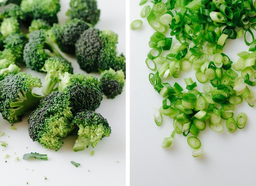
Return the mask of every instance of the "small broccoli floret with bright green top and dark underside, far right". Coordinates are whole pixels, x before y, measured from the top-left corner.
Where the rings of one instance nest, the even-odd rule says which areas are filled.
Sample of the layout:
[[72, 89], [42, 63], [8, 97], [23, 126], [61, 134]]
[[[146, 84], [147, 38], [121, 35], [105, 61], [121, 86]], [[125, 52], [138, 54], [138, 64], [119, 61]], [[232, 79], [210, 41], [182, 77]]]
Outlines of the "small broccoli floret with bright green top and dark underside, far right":
[[104, 70], [100, 74], [100, 82], [104, 95], [109, 99], [115, 98], [123, 91], [125, 79], [123, 70]]

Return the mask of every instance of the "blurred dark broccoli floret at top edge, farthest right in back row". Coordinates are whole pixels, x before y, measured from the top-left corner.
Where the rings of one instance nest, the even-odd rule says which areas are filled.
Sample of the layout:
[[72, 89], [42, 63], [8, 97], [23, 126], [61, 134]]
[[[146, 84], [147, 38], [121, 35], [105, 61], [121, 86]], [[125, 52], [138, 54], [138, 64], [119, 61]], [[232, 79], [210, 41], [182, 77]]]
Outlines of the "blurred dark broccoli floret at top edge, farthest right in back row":
[[95, 25], [99, 21], [100, 10], [97, 9], [95, 0], [71, 0], [67, 16], [71, 19], [78, 18]]

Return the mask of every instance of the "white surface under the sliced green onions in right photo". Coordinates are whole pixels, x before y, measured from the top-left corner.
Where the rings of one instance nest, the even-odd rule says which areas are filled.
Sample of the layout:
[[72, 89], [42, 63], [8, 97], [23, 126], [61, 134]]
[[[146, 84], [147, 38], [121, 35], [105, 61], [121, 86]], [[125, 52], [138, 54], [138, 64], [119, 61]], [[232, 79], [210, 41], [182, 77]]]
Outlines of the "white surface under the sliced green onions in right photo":
[[[248, 122], [243, 129], [230, 134], [224, 125], [225, 130], [216, 133], [207, 125], [200, 132], [202, 157], [191, 156], [193, 149], [182, 134], [175, 135], [170, 148], [161, 147], [163, 139], [173, 131], [173, 120], [163, 116], [162, 126], [154, 123], [153, 108], [161, 106], [162, 98], [148, 81], [151, 71], [145, 59], [150, 51], [149, 38], [155, 31], [140, 17], [145, 5], [139, 6], [139, 2], [130, 1], [130, 23], [135, 19], [143, 21], [140, 29], [130, 31], [130, 185], [255, 185], [255, 108], [245, 102], [237, 105], [234, 112], [234, 117], [241, 111], [247, 113]], [[229, 40], [223, 53], [236, 62], [241, 51], [248, 51], [243, 38]], [[168, 82], [173, 85], [177, 81], [184, 87], [185, 77], [196, 81], [191, 70]], [[255, 87], [250, 89], [255, 91]]]

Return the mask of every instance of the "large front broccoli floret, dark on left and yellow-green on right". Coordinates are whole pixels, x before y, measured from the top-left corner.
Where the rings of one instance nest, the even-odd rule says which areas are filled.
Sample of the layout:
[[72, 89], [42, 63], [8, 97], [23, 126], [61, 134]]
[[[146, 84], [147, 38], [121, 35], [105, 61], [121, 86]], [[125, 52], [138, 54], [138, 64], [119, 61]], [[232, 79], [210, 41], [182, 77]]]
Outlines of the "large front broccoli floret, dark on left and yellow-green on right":
[[74, 129], [69, 98], [67, 93], [56, 91], [40, 100], [28, 118], [28, 132], [33, 141], [55, 151], [62, 146], [61, 138]]

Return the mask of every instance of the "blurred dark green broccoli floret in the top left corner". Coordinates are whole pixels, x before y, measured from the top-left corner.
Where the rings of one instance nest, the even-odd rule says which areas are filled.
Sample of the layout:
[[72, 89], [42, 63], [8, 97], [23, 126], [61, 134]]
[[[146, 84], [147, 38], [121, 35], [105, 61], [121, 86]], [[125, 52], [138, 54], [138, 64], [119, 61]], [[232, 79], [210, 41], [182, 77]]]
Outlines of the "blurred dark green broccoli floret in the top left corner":
[[17, 4], [7, 4], [0, 6], [0, 19], [7, 17], [13, 17], [16, 19], [24, 19], [24, 12], [20, 9]]

